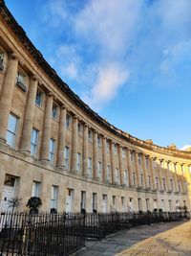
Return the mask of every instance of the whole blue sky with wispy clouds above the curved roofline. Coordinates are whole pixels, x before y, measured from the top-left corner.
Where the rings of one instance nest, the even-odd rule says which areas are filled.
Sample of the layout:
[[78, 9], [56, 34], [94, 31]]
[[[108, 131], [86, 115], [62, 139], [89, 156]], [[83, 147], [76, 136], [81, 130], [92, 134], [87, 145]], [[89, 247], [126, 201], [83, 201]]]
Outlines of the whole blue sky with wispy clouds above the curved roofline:
[[190, 0], [6, 0], [59, 76], [117, 128], [191, 144]]

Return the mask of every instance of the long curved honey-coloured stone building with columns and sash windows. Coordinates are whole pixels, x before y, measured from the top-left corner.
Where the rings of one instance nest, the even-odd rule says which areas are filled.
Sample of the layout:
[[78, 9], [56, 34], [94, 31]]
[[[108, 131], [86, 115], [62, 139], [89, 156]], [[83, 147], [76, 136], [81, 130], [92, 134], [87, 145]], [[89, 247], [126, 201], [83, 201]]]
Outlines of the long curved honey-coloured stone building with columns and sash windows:
[[0, 198], [43, 211], [190, 207], [191, 152], [123, 132], [85, 105], [0, 1]]

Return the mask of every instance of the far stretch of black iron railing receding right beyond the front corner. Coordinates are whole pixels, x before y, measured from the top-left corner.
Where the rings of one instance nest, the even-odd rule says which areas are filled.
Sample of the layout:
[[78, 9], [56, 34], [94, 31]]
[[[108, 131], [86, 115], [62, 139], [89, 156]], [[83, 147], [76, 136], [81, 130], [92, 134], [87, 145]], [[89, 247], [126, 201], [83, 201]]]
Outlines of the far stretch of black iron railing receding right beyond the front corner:
[[148, 213], [107, 213], [86, 214], [86, 237], [103, 239], [120, 229], [157, 222], [180, 221], [188, 219], [188, 213], [148, 212]]

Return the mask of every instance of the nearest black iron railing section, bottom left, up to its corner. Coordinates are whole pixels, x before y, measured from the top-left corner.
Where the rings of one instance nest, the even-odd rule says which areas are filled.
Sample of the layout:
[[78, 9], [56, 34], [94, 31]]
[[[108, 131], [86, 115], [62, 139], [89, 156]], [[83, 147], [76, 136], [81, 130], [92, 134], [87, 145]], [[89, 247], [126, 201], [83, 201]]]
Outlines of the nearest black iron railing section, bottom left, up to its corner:
[[70, 255], [85, 246], [79, 214], [0, 215], [0, 255]]

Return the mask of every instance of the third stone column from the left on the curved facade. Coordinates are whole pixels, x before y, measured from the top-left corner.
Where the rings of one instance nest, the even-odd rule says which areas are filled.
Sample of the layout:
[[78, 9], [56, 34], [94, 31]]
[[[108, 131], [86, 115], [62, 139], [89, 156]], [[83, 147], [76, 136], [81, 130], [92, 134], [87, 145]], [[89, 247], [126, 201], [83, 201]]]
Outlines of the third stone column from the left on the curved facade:
[[51, 139], [52, 126], [52, 110], [53, 110], [53, 93], [50, 92], [46, 97], [46, 108], [44, 114], [44, 126], [42, 134], [41, 160], [49, 161], [49, 147]]

